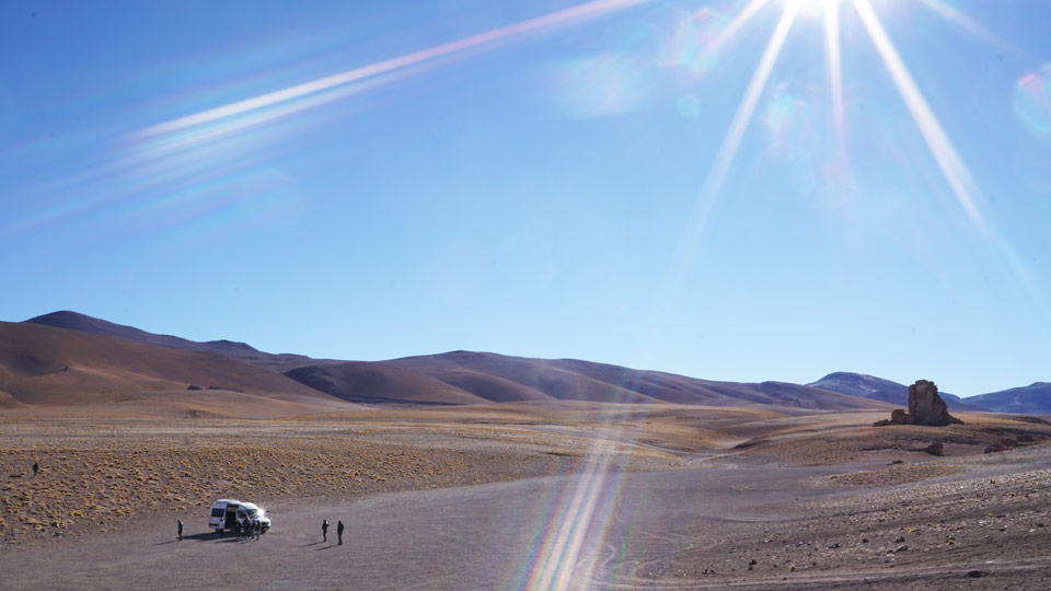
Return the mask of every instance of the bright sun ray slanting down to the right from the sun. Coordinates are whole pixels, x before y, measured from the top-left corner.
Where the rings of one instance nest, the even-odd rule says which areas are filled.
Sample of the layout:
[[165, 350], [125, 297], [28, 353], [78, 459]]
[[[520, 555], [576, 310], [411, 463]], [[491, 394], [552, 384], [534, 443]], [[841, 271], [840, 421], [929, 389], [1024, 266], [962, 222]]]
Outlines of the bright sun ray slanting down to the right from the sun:
[[876, 45], [879, 57], [883, 60], [883, 65], [894, 81], [894, 86], [898, 88], [898, 92], [905, 101], [905, 106], [909, 108], [913, 121], [920, 129], [920, 134], [926, 141], [931, 153], [934, 154], [934, 159], [938, 163], [938, 167], [942, 169], [942, 174], [949, 183], [957, 201], [963, 208], [967, 217], [970, 218], [971, 223], [983, 235], [988, 235], [989, 225], [977, 202], [979, 196], [978, 184], [974, 183], [963, 161], [956, 153], [952, 142], [946, 136], [945, 130], [942, 129], [942, 124], [938, 123], [934, 112], [927, 105], [927, 101], [920, 92], [920, 88], [916, 86], [912, 74], [909, 73], [909, 68], [905, 67], [901, 56], [898, 55], [898, 50], [868, 0], [854, 0], [854, 8], [857, 9], [862, 23]]

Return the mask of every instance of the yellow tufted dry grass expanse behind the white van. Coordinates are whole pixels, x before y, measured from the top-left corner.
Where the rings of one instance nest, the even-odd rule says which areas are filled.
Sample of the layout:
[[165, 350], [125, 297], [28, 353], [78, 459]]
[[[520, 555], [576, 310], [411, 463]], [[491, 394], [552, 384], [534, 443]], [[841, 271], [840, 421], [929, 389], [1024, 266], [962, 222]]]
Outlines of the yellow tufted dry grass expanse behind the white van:
[[[0, 552], [232, 497], [354, 498], [675, 456], [630, 442], [492, 425], [0, 417]], [[39, 475], [32, 465], [39, 462]]]

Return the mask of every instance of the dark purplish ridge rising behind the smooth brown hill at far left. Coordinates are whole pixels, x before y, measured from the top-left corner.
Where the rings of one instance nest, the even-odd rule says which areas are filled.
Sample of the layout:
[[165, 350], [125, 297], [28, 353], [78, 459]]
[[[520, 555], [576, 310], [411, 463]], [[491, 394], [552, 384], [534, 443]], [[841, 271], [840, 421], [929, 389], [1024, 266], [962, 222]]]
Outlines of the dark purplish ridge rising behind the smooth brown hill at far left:
[[78, 331], [92, 335], [119, 338], [123, 340], [129, 340], [131, 343], [171, 347], [187, 351], [216, 352], [235, 357], [252, 364], [268, 368], [277, 372], [284, 372], [293, 368], [327, 361], [325, 359], [311, 359], [310, 357], [302, 355], [275, 355], [263, 352], [251, 345], [233, 340], [207, 340], [201, 343], [172, 335], [158, 335], [141, 331], [134, 326], [115, 324], [101, 318], [95, 318], [85, 314], [69, 311], [51, 312], [50, 314], [36, 316], [25, 321], [25, 324], [54, 326], [56, 328], [66, 328], [68, 331]]

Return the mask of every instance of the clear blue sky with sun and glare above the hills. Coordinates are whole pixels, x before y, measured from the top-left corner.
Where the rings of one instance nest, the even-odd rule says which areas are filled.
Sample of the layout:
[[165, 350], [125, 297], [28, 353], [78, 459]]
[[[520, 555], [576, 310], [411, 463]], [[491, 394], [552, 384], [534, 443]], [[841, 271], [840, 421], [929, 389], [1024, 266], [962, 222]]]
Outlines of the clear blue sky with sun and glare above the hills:
[[1048, 22], [1040, 0], [3, 2], [0, 317], [1048, 381]]

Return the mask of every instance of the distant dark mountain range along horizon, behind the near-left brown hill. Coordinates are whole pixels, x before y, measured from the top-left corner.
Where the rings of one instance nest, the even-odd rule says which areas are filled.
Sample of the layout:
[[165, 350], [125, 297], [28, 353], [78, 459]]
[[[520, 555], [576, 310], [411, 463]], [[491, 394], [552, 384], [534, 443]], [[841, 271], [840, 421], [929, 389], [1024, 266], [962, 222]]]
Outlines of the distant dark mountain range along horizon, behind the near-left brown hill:
[[[45, 325], [143, 345], [219, 354], [247, 361], [275, 374], [284, 374], [284, 378], [312, 391], [350, 402], [477, 404], [564, 399], [712, 406], [774, 405], [810, 410], [886, 409], [889, 405], [900, 407], [908, 404], [905, 385], [850, 372], [830, 373], [817, 382], [800, 385], [787, 382], [719, 382], [579, 359], [532, 359], [475, 351], [450, 351], [389, 361], [339, 361], [292, 354], [267, 354], [231, 340], [201, 343], [158, 335], [70, 311], [44, 314], [23, 324]], [[942, 395], [949, 408], [958, 412], [1042, 414], [1051, 413], [1049, 389], [1049, 384], [1038, 382], [1025, 389], [1012, 389], [967, 401], [952, 394]]]

